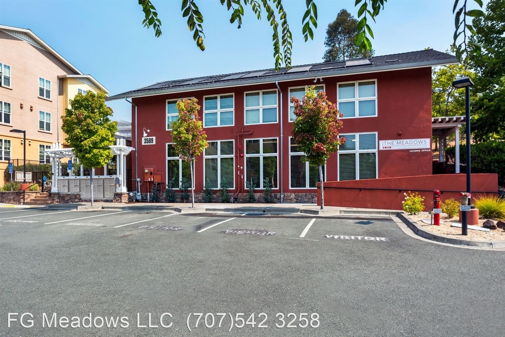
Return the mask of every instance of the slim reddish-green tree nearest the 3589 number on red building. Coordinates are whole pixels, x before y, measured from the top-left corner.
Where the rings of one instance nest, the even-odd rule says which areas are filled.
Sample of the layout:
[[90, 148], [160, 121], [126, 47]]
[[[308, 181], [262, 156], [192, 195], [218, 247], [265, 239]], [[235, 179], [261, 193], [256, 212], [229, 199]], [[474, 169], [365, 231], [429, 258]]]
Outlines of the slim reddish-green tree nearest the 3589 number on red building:
[[198, 110], [200, 106], [196, 99], [180, 100], [176, 104], [179, 111], [179, 119], [172, 122], [171, 134], [173, 147], [179, 154], [179, 158], [189, 162], [191, 171], [191, 207], [194, 208], [194, 161], [204, 149], [209, 147], [207, 134], [205, 133]]

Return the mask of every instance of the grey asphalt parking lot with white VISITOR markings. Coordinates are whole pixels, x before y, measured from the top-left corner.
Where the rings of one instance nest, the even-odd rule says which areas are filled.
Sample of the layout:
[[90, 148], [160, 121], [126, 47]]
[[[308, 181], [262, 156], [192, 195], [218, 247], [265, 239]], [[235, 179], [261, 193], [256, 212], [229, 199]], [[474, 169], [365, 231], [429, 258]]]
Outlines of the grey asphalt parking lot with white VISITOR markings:
[[1, 336], [488, 336], [505, 327], [503, 251], [427, 243], [386, 216], [1, 209], [0, 256]]

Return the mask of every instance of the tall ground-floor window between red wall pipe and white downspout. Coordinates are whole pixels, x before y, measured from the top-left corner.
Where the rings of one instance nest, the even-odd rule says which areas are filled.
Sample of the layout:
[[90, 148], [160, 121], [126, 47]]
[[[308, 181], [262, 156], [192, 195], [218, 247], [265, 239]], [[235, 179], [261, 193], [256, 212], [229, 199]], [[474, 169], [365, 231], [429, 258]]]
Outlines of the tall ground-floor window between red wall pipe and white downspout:
[[268, 179], [272, 188], [279, 188], [277, 181], [277, 138], [245, 139], [245, 180], [264, 188]]

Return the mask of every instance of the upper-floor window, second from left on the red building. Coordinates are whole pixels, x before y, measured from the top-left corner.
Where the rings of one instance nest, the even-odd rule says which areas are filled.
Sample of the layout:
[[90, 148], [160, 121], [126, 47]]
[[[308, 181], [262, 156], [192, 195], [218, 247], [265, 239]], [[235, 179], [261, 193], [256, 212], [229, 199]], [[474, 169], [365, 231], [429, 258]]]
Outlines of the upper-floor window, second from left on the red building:
[[233, 125], [233, 93], [204, 97], [204, 127]]

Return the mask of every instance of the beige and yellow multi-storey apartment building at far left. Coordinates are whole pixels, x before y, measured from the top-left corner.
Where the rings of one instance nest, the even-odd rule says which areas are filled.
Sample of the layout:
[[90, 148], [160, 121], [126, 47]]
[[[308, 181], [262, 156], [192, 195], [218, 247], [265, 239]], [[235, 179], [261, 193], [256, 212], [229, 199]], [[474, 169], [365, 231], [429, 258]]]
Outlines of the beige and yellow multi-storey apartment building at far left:
[[49, 163], [44, 151], [65, 146], [61, 116], [78, 92], [109, 91], [84, 75], [29, 29], [0, 25], [0, 186], [9, 160]]

